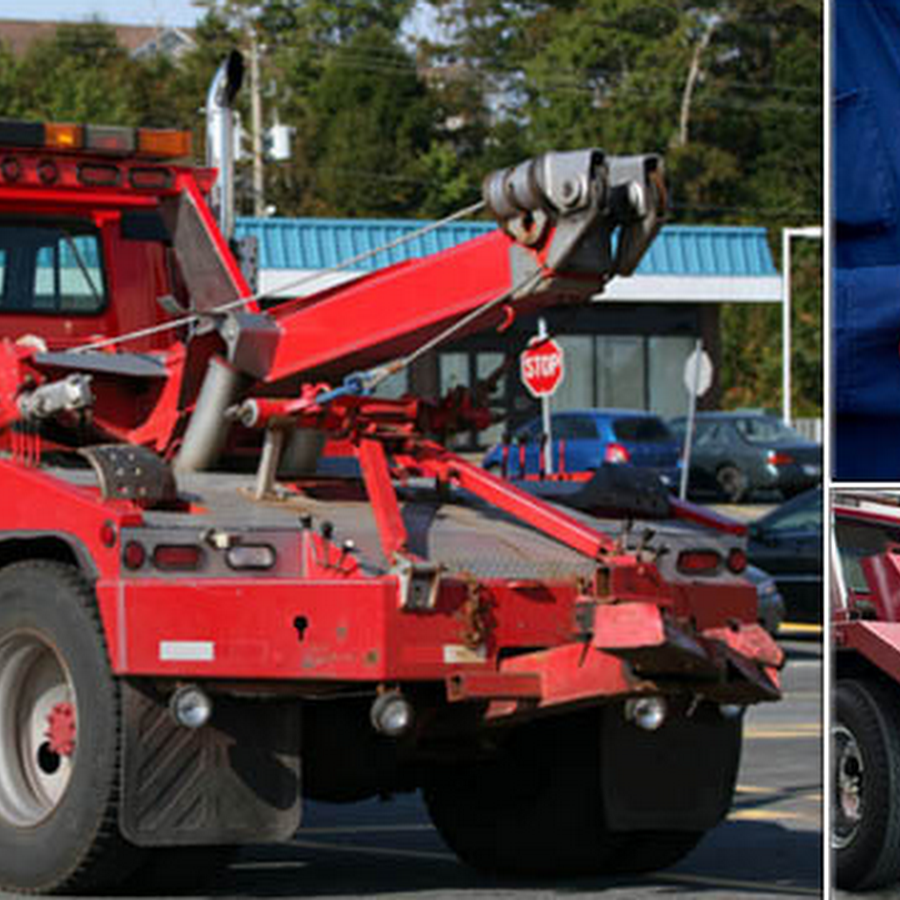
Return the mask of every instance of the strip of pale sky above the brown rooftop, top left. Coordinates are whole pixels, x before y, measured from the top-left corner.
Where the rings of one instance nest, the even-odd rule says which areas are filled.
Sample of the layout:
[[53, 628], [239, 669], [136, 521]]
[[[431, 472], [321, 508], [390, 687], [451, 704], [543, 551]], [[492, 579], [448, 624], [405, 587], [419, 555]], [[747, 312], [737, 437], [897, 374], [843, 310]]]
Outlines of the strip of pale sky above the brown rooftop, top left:
[[121, 25], [193, 25], [191, 0], [0, 0], [0, 19], [80, 22], [100, 18]]

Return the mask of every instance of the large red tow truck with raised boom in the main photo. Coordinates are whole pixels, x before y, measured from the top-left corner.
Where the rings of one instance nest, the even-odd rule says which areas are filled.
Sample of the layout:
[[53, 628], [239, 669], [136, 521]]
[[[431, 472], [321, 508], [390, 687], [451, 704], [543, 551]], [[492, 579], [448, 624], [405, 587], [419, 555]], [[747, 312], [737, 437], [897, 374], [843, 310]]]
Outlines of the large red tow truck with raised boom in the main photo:
[[445, 449], [477, 396], [372, 390], [630, 274], [661, 161], [546, 154], [486, 181], [495, 232], [264, 308], [187, 153], [0, 122], [0, 887], [196, 877], [413, 790], [484, 870], [679, 859], [780, 696], [741, 529], [601, 528]]

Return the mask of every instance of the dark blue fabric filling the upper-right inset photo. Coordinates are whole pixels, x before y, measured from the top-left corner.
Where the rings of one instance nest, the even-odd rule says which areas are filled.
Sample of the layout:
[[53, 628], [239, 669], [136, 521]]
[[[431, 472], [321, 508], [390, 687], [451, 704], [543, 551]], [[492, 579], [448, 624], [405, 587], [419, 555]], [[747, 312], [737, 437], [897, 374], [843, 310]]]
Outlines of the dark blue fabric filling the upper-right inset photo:
[[900, 0], [833, 0], [834, 476], [900, 480]]

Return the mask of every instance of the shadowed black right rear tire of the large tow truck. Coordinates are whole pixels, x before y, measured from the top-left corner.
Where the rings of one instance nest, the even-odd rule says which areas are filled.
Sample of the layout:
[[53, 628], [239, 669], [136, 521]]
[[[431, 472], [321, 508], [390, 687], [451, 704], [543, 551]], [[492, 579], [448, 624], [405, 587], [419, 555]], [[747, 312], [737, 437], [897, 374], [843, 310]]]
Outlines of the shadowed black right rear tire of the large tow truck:
[[608, 829], [599, 728], [595, 713], [527, 726], [499, 759], [443, 772], [424, 790], [441, 837], [492, 875], [612, 875], [676, 863], [702, 832]]

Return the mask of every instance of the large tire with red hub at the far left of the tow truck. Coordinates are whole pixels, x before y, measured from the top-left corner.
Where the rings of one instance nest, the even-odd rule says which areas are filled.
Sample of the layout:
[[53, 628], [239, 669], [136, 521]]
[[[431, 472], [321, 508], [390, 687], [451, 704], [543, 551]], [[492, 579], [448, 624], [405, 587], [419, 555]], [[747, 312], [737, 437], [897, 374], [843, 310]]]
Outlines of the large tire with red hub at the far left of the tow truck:
[[142, 854], [118, 828], [119, 693], [71, 566], [0, 571], [0, 886], [109, 888]]

